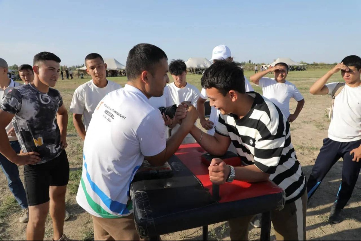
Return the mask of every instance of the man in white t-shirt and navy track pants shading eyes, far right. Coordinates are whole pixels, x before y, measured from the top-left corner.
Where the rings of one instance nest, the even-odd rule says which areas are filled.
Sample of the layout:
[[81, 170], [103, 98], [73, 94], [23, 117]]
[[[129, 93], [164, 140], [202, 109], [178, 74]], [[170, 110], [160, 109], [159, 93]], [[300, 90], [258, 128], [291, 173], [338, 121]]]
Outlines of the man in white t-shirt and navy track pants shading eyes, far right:
[[[326, 84], [329, 78], [341, 70], [344, 86], [335, 97], [338, 82]], [[336, 201], [331, 207], [329, 221], [341, 222], [341, 210], [351, 198], [361, 169], [361, 58], [345, 57], [341, 63], [319, 78], [311, 87], [313, 95], [331, 95], [334, 108], [328, 137], [316, 158], [307, 181], [308, 198], [325, 178], [331, 167], [342, 157], [342, 180]]]

